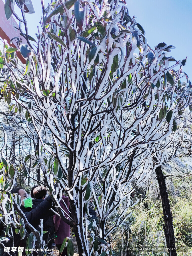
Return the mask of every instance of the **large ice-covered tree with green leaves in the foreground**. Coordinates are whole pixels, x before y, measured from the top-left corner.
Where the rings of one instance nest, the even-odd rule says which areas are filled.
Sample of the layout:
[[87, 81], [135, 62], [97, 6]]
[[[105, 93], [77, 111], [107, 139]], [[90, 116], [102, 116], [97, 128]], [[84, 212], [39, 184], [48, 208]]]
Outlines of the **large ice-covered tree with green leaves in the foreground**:
[[[6, 1], [13, 11], [12, 1]], [[191, 109], [190, 82], [180, 80], [185, 61], [166, 57], [174, 47], [164, 42], [150, 48], [125, 1], [59, 0], [47, 8], [41, 1], [34, 47], [23, 6], [15, 2], [29, 45], [20, 45], [26, 58], [20, 65], [16, 49], [4, 43], [2, 63], [10, 77], [3, 95], [9, 106], [16, 104], [19, 125], [37, 140], [33, 167], [42, 170], [61, 218], [73, 226], [79, 255], [112, 255], [110, 233], [136, 203], [135, 185], [182, 146], [179, 124], [183, 111]], [[8, 169], [1, 179], [11, 180]], [[59, 208], [64, 191], [69, 219]], [[2, 198], [8, 195], [4, 189]], [[107, 219], [120, 205], [123, 210], [110, 225]], [[90, 208], [98, 221], [90, 221]]]

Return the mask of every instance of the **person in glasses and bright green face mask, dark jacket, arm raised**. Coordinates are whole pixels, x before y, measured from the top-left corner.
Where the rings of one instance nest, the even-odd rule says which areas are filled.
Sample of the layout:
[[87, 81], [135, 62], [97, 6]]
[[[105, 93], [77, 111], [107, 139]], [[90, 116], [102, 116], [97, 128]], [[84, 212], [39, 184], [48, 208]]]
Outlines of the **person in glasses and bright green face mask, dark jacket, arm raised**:
[[[52, 206], [52, 197], [48, 196], [47, 198], [45, 198], [45, 200], [43, 200], [41, 202], [41, 204], [39, 204], [35, 209], [32, 209], [32, 205], [33, 205], [33, 201], [30, 197], [30, 195], [26, 192], [25, 189], [23, 188], [14, 188], [11, 190], [12, 194], [18, 194], [21, 197], [21, 206], [20, 209], [23, 211], [23, 213], [25, 214], [28, 222], [38, 231], [40, 231], [39, 228], [39, 223], [40, 223], [40, 219], [45, 219], [48, 218], [48, 216], [50, 216], [50, 208]], [[26, 231], [28, 232], [28, 234], [31, 233], [31, 231], [29, 229], [26, 228]], [[5, 236], [4, 233], [2, 233], [1, 235]], [[26, 248], [26, 240], [27, 240], [27, 236], [25, 236], [24, 239], [21, 239], [20, 234], [16, 234], [14, 232], [13, 229], [13, 237], [9, 237], [9, 241], [5, 244], [6, 247], [24, 247], [24, 251]], [[13, 256], [17, 256], [18, 252], [4, 252], [4, 248], [1, 247], [2, 249], [0, 250], [0, 255], [2, 256], [8, 256], [8, 255], [13, 255]]]

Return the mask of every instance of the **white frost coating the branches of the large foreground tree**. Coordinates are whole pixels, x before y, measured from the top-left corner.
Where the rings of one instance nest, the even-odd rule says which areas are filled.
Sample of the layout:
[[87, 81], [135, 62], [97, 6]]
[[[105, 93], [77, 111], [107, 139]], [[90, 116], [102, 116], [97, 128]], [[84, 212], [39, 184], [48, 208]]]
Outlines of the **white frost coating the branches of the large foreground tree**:
[[[178, 73], [171, 70], [177, 64], [174, 63], [169, 68], [168, 60], [165, 63], [162, 61], [164, 49], [154, 50], [147, 46], [147, 40], [144, 40], [141, 31], [137, 29], [135, 19], [133, 24], [128, 26], [125, 20], [122, 23], [123, 14], [116, 15], [115, 11], [118, 13], [118, 6], [123, 6], [123, 3], [118, 1], [115, 5], [113, 0], [110, 4], [107, 1], [101, 2], [101, 6], [98, 0], [86, 4], [83, 24], [84, 30], [87, 31], [95, 24], [96, 17], [100, 19], [99, 15], [104, 10], [109, 18], [109, 21], [100, 19], [100, 27], [95, 27], [97, 36], [93, 32], [86, 37], [94, 42], [97, 52], [100, 51], [98, 64], [94, 64], [97, 52], [89, 62], [91, 45], [78, 38], [82, 36], [82, 31], [76, 30], [73, 6], [65, 10], [69, 17], [68, 22], [71, 23], [65, 35], [60, 36], [66, 46], [50, 39], [44, 32], [38, 41], [36, 54], [38, 74], [35, 75], [36, 69], [33, 67], [34, 70], [22, 77], [24, 82], [19, 77], [19, 72], [12, 70], [14, 75], [11, 75], [15, 87], [18, 86], [20, 92], [22, 90], [19, 87], [27, 92], [19, 96], [22, 101], [14, 96], [17, 106], [27, 109], [32, 120], [20, 125], [25, 137], [27, 135], [32, 141], [31, 151], [26, 147], [25, 154], [33, 154], [31, 152], [38, 150], [35, 158], [38, 159], [56, 200], [58, 191], [61, 198], [65, 190], [71, 205], [74, 206], [72, 214], [78, 223], [76, 236], [80, 237], [80, 245], [85, 245], [84, 253], [88, 256], [93, 252], [93, 249], [91, 252], [88, 249], [88, 216], [80, 219], [85, 204], [87, 208], [91, 205], [100, 221], [105, 222], [115, 209], [121, 206], [122, 212], [116, 213], [116, 221], [111, 229], [105, 226], [104, 230], [101, 230], [101, 227], [93, 222], [97, 234], [107, 239], [114, 228], [129, 216], [126, 214], [132, 204], [130, 195], [134, 190], [133, 178], [134, 184], [142, 184], [151, 170], [169, 161], [177, 153], [177, 148], [184, 143], [186, 124], [181, 120], [183, 115], [178, 115], [179, 103], [182, 103], [181, 108], [184, 110], [191, 102], [191, 91], [186, 92], [188, 85], [181, 90], [177, 87], [176, 90], [175, 84], [170, 86], [169, 82], [166, 85], [163, 83], [164, 72], [167, 71], [172, 75], [174, 83], [180, 79], [177, 77]], [[64, 0], [62, 3], [64, 4]], [[51, 13], [54, 9], [53, 4], [47, 11]], [[92, 24], [90, 15], [94, 16]], [[64, 27], [65, 19], [61, 20], [60, 14], [52, 17], [50, 23], [47, 22], [48, 31], [52, 31], [56, 36], [59, 36], [60, 29], [62, 33], [58, 24]], [[127, 26], [124, 28], [121, 24]], [[100, 29], [104, 25], [106, 33], [101, 37]], [[71, 28], [76, 31], [73, 40], [70, 38]], [[139, 58], [138, 43], [141, 50]], [[151, 65], [146, 65], [145, 56], [149, 51], [154, 51], [155, 60]], [[117, 58], [114, 58], [116, 55], [118, 62]], [[52, 68], [50, 63], [54, 63], [55, 68]], [[44, 89], [50, 91], [48, 95], [42, 91]], [[169, 124], [166, 116], [159, 117], [160, 110], [165, 110], [165, 107], [167, 111], [174, 110]], [[17, 116], [14, 118], [18, 123]], [[24, 114], [21, 113], [21, 118], [25, 120], [25, 111]], [[190, 123], [189, 117], [185, 118]], [[180, 127], [176, 133], [172, 132], [173, 120], [177, 120], [177, 127]], [[7, 134], [9, 143], [11, 132]], [[36, 148], [33, 144], [37, 145]], [[24, 150], [21, 151], [25, 158]], [[154, 156], [156, 163], [153, 161]], [[58, 159], [60, 169], [54, 176], [55, 158]], [[15, 175], [13, 182], [16, 181]], [[88, 200], [84, 198], [87, 183], [81, 185], [86, 177], [91, 181], [92, 188]], [[56, 190], [55, 182], [58, 183]], [[11, 213], [13, 209], [8, 213], [5, 211], [6, 223], [12, 222]], [[92, 236], [94, 241], [93, 231]], [[98, 252], [95, 252], [95, 255], [97, 254]]]

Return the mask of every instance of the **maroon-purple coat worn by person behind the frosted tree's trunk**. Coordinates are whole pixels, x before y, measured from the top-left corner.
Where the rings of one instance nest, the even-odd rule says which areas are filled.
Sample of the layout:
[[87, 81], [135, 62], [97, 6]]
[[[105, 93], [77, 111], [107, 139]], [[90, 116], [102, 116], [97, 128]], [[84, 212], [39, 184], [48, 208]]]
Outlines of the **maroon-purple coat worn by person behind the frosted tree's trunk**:
[[[65, 204], [67, 205], [67, 208], [69, 209], [69, 198], [66, 196], [62, 196], [63, 201], [65, 202]], [[67, 214], [69, 215], [69, 211], [66, 208], [66, 206], [64, 205], [63, 201], [61, 200], [60, 206], [63, 208], [63, 210], [65, 210], [67, 212]], [[68, 217], [65, 214], [65, 217]], [[54, 221], [54, 226], [55, 226], [55, 233], [57, 235], [56, 239], [55, 239], [55, 243], [56, 244], [62, 244], [63, 240], [66, 237], [70, 237], [70, 226], [65, 223], [59, 216], [54, 215], [53, 217], [53, 221]]]

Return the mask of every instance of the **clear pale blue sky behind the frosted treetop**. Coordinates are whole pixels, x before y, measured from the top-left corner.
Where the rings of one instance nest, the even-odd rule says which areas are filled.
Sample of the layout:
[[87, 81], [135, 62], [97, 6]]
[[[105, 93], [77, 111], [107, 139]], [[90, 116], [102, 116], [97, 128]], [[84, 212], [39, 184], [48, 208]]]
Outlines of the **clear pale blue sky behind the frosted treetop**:
[[[35, 14], [26, 14], [29, 34], [35, 36], [40, 16], [42, 16], [40, 0], [32, 0]], [[176, 49], [168, 53], [176, 60], [187, 58], [187, 64], [183, 67], [189, 78], [192, 77], [192, 0], [126, 0], [129, 15], [135, 15], [137, 22], [145, 30], [148, 45], [154, 47], [165, 42], [174, 45]], [[49, 0], [45, 0], [45, 5]], [[192, 80], [192, 78], [191, 78]]]

